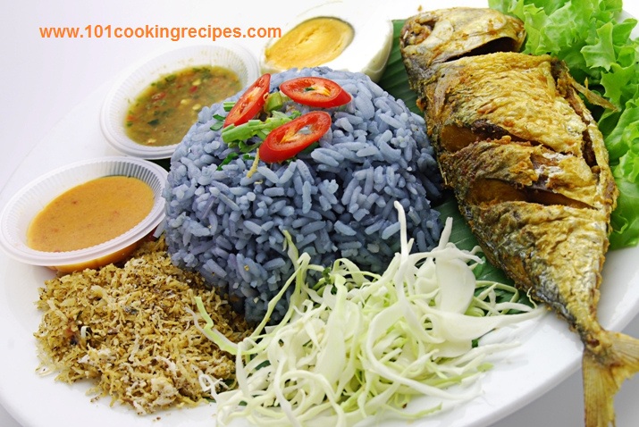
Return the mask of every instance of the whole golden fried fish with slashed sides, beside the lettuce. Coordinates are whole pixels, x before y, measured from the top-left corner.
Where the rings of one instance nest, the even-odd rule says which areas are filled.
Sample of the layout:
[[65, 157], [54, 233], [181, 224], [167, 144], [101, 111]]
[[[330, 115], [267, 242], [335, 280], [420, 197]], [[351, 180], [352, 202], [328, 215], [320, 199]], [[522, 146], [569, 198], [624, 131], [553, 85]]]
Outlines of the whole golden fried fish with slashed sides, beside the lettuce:
[[608, 426], [639, 341], [597, 321], [618, 188], [579, 94], [609, 105], [564, 63], [517, 53], [524, 38], [509, 16], [450, 9], [408, 20], [400, 48], [445, 184], [489, 261], [579, 334], [585, 424]]

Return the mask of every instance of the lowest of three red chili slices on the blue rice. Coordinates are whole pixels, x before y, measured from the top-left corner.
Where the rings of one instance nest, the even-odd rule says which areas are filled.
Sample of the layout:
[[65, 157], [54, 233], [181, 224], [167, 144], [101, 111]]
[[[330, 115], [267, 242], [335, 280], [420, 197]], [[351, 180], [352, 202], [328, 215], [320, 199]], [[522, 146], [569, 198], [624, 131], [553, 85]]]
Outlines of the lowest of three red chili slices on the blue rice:
[[259, 146], [259, 158], [277, 163], [297, 155], [331, 129], [331, 114], [314, 111], [299, 116], [268, 134]]

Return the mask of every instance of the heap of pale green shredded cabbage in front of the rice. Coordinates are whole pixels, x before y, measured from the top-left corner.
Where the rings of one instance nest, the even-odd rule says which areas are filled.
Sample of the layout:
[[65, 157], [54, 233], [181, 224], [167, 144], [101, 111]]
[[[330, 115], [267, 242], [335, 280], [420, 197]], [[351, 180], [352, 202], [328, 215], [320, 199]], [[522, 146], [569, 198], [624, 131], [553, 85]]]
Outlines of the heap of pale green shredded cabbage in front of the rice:
[[[202, 331], [236, 355], [237, 389], [210, 388], [219, 425], [243, 418], [261, 426], [345, 426], [383, 411], [417, 418], [440, 410], [439, 400], [477, 395], [476, 387], [450, 386], [473, 382], [491, 367], [487, 356], [513, 345], [476, 345], [477, 339], [542, 309], [517, 303], [511, 287], [512, 300], [498, 302], [495, 289], [506, 285], [475, 280], [482, 259], [477, 248], [449, 242], [451, 219], [438, 247], [410, 254], [405, 214], [398, 202], [395, 207], [401, 249], [383, 274], [363, 272], [348, 259], [330, 269], [309, 264], [289, 240], [297, 270], [274, 299], [294, 284], [282, 322], [268, 327], [266, 316], [235, 345], [214, 331], [200, 307]], [[312, 288], [309, 271], [323, 274]], [[438, 401], [418, 413], [401, 410], [417, 395]]]

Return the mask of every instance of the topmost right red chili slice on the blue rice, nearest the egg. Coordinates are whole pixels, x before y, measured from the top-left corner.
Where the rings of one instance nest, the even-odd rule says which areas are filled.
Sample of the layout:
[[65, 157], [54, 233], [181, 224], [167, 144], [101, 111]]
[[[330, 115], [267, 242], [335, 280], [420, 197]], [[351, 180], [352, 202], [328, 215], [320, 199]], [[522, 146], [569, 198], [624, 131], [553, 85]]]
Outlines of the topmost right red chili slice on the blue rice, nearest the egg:
[[332, 108], [350, 102], [352, 96], [338, 83], [322, 77], [298, 77], [286, 80], [280, 90], [299, 104]]

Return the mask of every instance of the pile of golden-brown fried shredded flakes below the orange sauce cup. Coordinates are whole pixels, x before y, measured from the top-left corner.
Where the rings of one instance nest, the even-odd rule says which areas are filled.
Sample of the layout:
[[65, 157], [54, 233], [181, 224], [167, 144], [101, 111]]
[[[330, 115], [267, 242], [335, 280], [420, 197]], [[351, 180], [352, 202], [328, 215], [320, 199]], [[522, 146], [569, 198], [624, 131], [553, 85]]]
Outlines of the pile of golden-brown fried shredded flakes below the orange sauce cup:
[[232, 386], [234, 357], [196, 329], [194, 297], [227, 338], [238, 342], [250, 332], [198, 274], [172, 265], [164, 238], [143, 244], [122, 267], [47, 280], [39, 292], [41, 372], [70, 383], [93, 379], [89, 393], [138, 414], [205, 401], [200, 374]]

